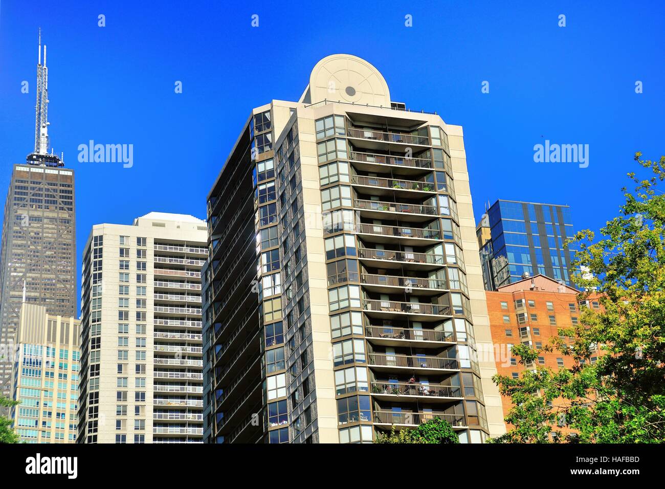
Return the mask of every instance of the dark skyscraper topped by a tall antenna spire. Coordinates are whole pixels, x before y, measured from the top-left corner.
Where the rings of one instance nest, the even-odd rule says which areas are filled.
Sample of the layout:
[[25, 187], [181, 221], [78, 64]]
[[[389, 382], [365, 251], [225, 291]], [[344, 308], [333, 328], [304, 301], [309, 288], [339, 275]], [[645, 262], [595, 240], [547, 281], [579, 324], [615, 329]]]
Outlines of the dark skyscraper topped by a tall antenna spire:
[[[44, 55], [42, 64], [42, 53]], [[9, 182], [0, 251], [0, 385], [11, 390], [11, 362], [25, 301], [52, 315], [76, 315], [74, 172], [48, 152], [48, 70], [39, 41], [35, 148], [15, 164]], [[5, 361], [3, 361], [5, 357]]]

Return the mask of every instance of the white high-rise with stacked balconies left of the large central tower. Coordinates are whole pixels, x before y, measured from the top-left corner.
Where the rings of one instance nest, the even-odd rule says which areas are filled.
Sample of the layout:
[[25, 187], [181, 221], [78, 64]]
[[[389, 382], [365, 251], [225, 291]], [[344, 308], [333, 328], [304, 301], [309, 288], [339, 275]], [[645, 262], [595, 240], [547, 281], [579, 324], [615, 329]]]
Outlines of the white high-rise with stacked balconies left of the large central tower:
[[80, 443], [202, 437], [205, 221], [151, 212], [98, 224], [84, 248]]

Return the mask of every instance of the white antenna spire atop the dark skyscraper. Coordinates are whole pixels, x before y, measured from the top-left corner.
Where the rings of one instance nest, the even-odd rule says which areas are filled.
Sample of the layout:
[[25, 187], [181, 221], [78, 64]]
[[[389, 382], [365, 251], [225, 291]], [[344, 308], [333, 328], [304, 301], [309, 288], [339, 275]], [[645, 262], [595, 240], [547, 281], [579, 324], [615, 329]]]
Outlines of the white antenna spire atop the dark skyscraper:
[[35, 148], [26, 158], [33, 165], [64, 166], [57, 155], [49, 154], [49, 69], [46, 67], [46, 45], [42, 65], [41, 27], [37, 51], [37, 104], [35, 104]]

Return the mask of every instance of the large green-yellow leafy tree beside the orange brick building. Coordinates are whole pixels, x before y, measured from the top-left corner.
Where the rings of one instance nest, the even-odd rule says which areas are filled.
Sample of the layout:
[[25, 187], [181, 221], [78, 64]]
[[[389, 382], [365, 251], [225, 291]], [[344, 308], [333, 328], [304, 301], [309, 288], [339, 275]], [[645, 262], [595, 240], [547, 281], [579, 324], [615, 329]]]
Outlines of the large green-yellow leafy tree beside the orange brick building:
[[[543, 347], [569, 355], [573, 367], [537, 365], [519, 379], [495, 375], [513, 402], [505, 420], [515, 428], [493, 442], [549, 442], [550, 432], [559, 442], [665, 442], [665, 195], [656, 188], [665, 180], [665, 156], [641, 156], [635, 160], [650, 176], [628, 174], [636, 187], [622, 189], [620, 215], [599, 240], [585, 230], [571, 242], [575, 265], [586, 267], [573, 278], [584, 291], [578, 299], [598, 294], [602, 305], [583, 307], [580, 324], [559, 329], [563, 338]], [[513, 355], [527, 364], [538, 354], [516, 345]], [[549, 405], [555, 400], [561, 405]], [[577, 434], [563, 436], [562, 426]]]

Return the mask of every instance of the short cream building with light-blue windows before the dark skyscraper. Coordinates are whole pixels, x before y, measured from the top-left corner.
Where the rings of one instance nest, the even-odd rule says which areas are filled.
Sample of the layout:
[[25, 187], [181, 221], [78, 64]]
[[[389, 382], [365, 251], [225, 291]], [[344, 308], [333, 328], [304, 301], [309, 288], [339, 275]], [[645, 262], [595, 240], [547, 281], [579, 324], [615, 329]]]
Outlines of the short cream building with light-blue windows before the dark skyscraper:
[[24, 303], [16, 333], [11, 408], [25, 443], [74, 443], [78, 424], [80, 324]]

